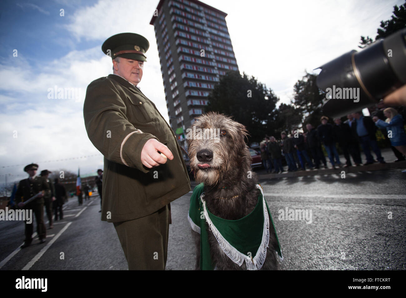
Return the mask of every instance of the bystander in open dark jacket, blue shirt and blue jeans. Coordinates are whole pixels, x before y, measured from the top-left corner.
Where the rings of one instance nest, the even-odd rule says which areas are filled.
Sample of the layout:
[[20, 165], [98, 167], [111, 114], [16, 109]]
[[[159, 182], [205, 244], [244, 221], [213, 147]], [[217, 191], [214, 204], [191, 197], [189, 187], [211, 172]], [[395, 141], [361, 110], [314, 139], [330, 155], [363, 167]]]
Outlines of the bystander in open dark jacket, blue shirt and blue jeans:
[[378, 143], [376, 142], [375, 133], [377, 128], [374, 121], [372, 121], [371, 117], [364, 116], [362, 111], [357, 111], [352, 115], [355, 118], [351, 125], [352, 133], [354, 136], [358, 136], [361, 142], [362, 150], [367, 157], [367, 162], [364, 163], [364, 165], [370, 165], [371, 163], [375, 162], [369, 147], [371, 147], [372, 151], [375, 152], [376, 159], [378, 159], [380, 163], [385, 163], [378, 147]]

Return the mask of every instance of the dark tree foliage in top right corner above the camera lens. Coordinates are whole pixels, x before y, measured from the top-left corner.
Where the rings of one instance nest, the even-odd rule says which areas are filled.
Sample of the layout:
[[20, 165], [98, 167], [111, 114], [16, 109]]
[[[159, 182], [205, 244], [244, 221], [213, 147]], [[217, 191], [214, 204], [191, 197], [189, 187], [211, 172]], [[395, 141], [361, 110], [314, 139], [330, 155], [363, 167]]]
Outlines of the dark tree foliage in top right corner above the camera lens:
[[[378, 35], [375, 36], [375, 40], [385, 38], [386, 36], [395, 33], [398, 30], [401, 30], [406, 27], [406, 1], [400, 7], [397, 5], [393, 6], [393, 15], [392, 18], [387, 21], [381, 21], [381, 28], [378, 28]], [[361, 36], [361, 41], [358, 47], [361, 49], [373, 42], [369, 36]]]

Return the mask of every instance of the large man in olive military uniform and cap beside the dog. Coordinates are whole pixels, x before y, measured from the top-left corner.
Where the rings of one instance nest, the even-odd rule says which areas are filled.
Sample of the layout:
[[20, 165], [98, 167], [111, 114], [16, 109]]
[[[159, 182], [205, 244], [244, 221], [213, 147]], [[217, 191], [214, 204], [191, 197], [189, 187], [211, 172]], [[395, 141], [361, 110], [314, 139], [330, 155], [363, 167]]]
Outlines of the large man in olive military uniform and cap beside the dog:
[[166, 265], [169, 203], [190, 191], [175, 134], [137, 84], [149, 42], [134, 33], [108, 38], [113, 74], [86, 90], [87, 135], [104, 155], [102, 220], [114, 223], [129, 269]]

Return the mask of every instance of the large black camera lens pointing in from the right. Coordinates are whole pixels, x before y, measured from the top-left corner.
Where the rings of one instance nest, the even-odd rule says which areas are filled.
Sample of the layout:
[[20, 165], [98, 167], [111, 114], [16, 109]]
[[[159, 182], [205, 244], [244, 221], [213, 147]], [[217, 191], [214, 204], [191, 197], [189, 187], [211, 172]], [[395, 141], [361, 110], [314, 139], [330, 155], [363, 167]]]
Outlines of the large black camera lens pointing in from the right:
[[317, 86], [326, 92], [322, 110], [341, 117], [370, 107], [406, 84], [406, 29], [320, 66]]

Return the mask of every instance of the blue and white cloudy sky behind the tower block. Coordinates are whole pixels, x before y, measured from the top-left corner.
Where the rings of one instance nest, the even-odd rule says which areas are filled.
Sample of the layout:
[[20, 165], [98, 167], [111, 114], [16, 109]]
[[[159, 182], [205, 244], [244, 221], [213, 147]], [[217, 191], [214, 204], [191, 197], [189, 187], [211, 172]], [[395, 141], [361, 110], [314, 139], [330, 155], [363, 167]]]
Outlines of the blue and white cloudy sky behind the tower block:
[[[155, 32], [149, 24], [158, 0], [2, 0], [0, 4], [0, 185], [39, 171], [90, 174], [103, 156], [87, 137], [86, 87], [112, 73], [101, 50], [110, 36], [134, 32], [150, 48], [138, 87], [168, 121]], [[313, 69], [375, 38], [381, 20], [400, 0], [206, 0], [227, 13], [240, 72], [289, 103], [293, 86]], [[249, 3], [249, 5], [247, 5]], [[317, 73], [317, 71], [315, 71]], [[59, 88], [71, 91], [55, 98]], [[69, 94], [67, 94], [69, 95]], [[64, 96], [65, 97], [65, 96]], [[2, 195], [2, 194], [0, 194]]]

